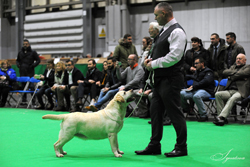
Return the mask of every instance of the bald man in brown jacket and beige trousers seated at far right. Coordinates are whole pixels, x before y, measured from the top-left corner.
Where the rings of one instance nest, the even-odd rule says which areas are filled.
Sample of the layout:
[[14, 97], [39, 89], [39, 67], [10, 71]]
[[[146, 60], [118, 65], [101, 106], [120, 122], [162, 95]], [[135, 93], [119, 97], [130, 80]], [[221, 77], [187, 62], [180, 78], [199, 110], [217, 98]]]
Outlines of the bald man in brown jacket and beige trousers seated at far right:
[[223, 126], [228, 123], [227, 116], [235, 102], [250, 95], [250, 65], [246, 64], [246, 60], [246, 56], [240, 53], [236, 57], [235, 64], [223, 71], [228, 81], [225, 90], [215, 94], [218, 112], [218, 117], [213, 122], [215, 125]]

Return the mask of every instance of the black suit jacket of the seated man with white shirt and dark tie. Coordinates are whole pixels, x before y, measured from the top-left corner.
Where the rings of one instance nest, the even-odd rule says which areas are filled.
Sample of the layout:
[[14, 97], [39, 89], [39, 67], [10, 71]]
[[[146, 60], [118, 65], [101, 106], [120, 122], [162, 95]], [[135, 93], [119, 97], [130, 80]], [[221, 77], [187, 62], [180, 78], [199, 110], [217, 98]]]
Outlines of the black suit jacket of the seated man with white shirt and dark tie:
[[78, 86], [78, 83], [77, 83], [78, 80], [84, 80], [84, 76], [82, 72], [76, 67], [74, 67], [73, 72], [72, 72], [72, 80], [73, 80], [73, 83], [69, 84], [69, 73], [68, 71], [65, 70], [62, 84], [67, 85], [69, 89], [71, 86]]

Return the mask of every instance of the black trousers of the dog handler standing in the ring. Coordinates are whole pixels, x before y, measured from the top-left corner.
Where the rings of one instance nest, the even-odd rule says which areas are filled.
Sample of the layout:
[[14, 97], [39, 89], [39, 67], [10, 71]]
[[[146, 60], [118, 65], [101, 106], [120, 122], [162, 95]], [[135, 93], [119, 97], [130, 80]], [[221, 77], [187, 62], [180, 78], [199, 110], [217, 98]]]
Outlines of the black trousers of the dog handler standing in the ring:
[[186, 120], [180, 107], [180, 91], [183, 83], [182, 74], [155, 79], [155, 88], [150, 106], [152, 136], [149, 146], [160, 145], [163, 133], [163, 115], [166, 110], [177, 135], [175, 148], [185, 149], [187, 147]]

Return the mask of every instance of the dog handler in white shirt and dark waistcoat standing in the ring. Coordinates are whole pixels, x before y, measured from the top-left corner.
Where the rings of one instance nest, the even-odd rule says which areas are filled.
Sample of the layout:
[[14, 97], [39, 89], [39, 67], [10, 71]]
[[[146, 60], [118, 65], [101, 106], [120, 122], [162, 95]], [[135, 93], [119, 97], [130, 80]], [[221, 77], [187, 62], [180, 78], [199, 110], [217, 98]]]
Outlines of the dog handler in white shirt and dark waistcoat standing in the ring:
[[173, 151], [165, 153], [167, 157], [186, 156], [187, 126], [180, 109], [180, 91], [184, 83], [181, 72], [183, 54], [187, 45], [187, 37], [183, 28], [173, 17], [172, 6], [167, 2], [156, 5], [155, 20], [163, 26], [155, 39], [152, 59], [144, 61], [145, 67], [153, 73], [153, 97], [150, 106], [152, 136], [148, 146], [138, 155], [161, 154], [163, 133], [163, 114], [167, 111], [177, 134], [177, 143]]

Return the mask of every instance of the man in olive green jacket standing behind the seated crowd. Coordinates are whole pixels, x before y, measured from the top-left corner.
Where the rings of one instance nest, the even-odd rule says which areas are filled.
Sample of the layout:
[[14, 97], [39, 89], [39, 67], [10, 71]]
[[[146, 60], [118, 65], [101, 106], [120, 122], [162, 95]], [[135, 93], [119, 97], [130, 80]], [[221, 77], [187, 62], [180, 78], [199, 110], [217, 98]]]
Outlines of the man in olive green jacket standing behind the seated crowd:
[[129, 66], [128, 56], [130, 54], [137, 54], [135, 45], [132, 44], [132, 36], [130, 34], [125, 34], [123, 39], [119, 40], [119, 45], [115, 47], [113, 57], [121, 62], [122, 71]]

